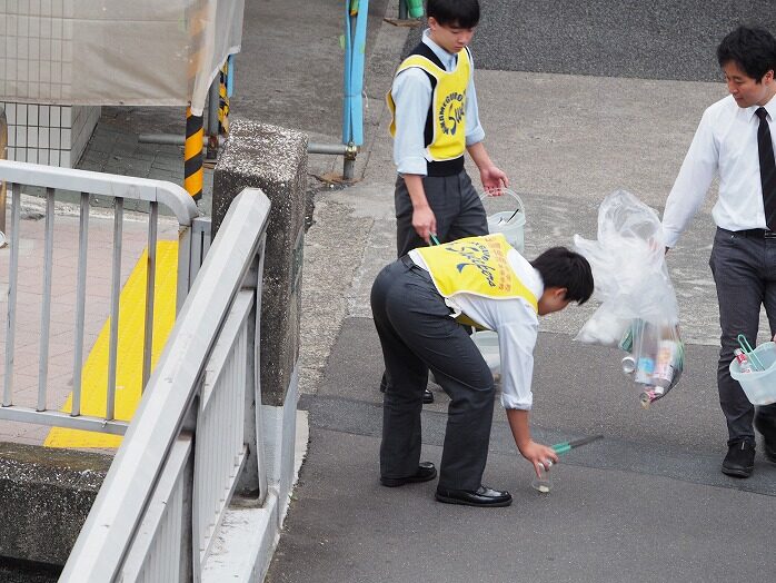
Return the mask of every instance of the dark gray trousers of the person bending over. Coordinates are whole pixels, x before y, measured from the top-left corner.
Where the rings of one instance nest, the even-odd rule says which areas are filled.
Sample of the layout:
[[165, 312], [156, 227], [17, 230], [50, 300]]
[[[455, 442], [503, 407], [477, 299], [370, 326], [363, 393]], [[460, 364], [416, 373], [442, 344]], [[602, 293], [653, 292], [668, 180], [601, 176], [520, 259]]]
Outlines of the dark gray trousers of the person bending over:
[[382, 405], [382, 477], [412, 475], [420, 462], [420, 413], [428, 369], [450, 397], [439, 486], [477, 490], [488, 458], [494, 377], [431, 283], [402, 257], [371, 288], [388, 386]]

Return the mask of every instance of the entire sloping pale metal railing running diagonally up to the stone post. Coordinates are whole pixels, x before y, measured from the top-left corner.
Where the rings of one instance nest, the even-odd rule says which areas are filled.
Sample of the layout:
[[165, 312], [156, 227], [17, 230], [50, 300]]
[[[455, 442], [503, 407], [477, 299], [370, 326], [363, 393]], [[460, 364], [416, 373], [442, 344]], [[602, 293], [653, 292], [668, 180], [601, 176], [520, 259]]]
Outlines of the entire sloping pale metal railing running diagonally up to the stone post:
[[[258, 376], [269, 200], [232, 202], [60, 582], [199, 581], [238, 484], [267, 494]], [[208, 306], [202, 310], [201, 306]]]

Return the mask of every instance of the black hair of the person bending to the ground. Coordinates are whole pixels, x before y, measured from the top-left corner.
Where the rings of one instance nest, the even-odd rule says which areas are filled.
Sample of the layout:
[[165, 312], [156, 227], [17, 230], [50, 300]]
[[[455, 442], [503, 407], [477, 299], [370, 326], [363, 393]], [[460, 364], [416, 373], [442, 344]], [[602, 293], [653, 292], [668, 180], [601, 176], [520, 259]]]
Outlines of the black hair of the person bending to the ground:
[[566, 247], [550, 247], [530, 261], [548, 287], [565, 287], [566, 299], [581, 305], [593, 295], [593, 269], [587, 259]]

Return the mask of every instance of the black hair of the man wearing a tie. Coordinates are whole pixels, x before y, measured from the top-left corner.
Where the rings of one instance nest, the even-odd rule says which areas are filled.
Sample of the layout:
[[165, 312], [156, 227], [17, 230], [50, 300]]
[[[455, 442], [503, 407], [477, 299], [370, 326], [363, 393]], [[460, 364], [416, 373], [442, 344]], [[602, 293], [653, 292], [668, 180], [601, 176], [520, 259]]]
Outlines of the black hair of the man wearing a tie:
[[733, 61], [758, 83], [770, 70], [776, 71], [776, 39], [763, 28], [738, 27], [717, 47], [719, 67]]

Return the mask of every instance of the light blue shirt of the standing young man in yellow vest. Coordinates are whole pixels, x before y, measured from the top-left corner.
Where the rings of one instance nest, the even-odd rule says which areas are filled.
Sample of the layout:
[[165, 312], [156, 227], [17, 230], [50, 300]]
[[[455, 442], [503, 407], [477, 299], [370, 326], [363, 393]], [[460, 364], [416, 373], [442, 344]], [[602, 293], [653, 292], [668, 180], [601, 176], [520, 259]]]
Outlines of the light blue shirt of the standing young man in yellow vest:
[[[452, 71], [458, 56], [447, 52], [429, 37], [429, 30], [422, 33], [422, 42], [436, 55], [446, 71]], [[469, 85], [466, 88], [466, 146], [485, 139], [485, 130], [479, 122], [477, 93], [475, 91], [475, 63], [471, 60]], [[394, 162], [399, 174], [426, 176], [427, 157], [425, 128], [428, 109], [431, 106], [431, 81], [421, 69], [414, 67], [401, 71], [391, 85], [391, 97], [396, 105], [396, 136], [394, 138]]]

